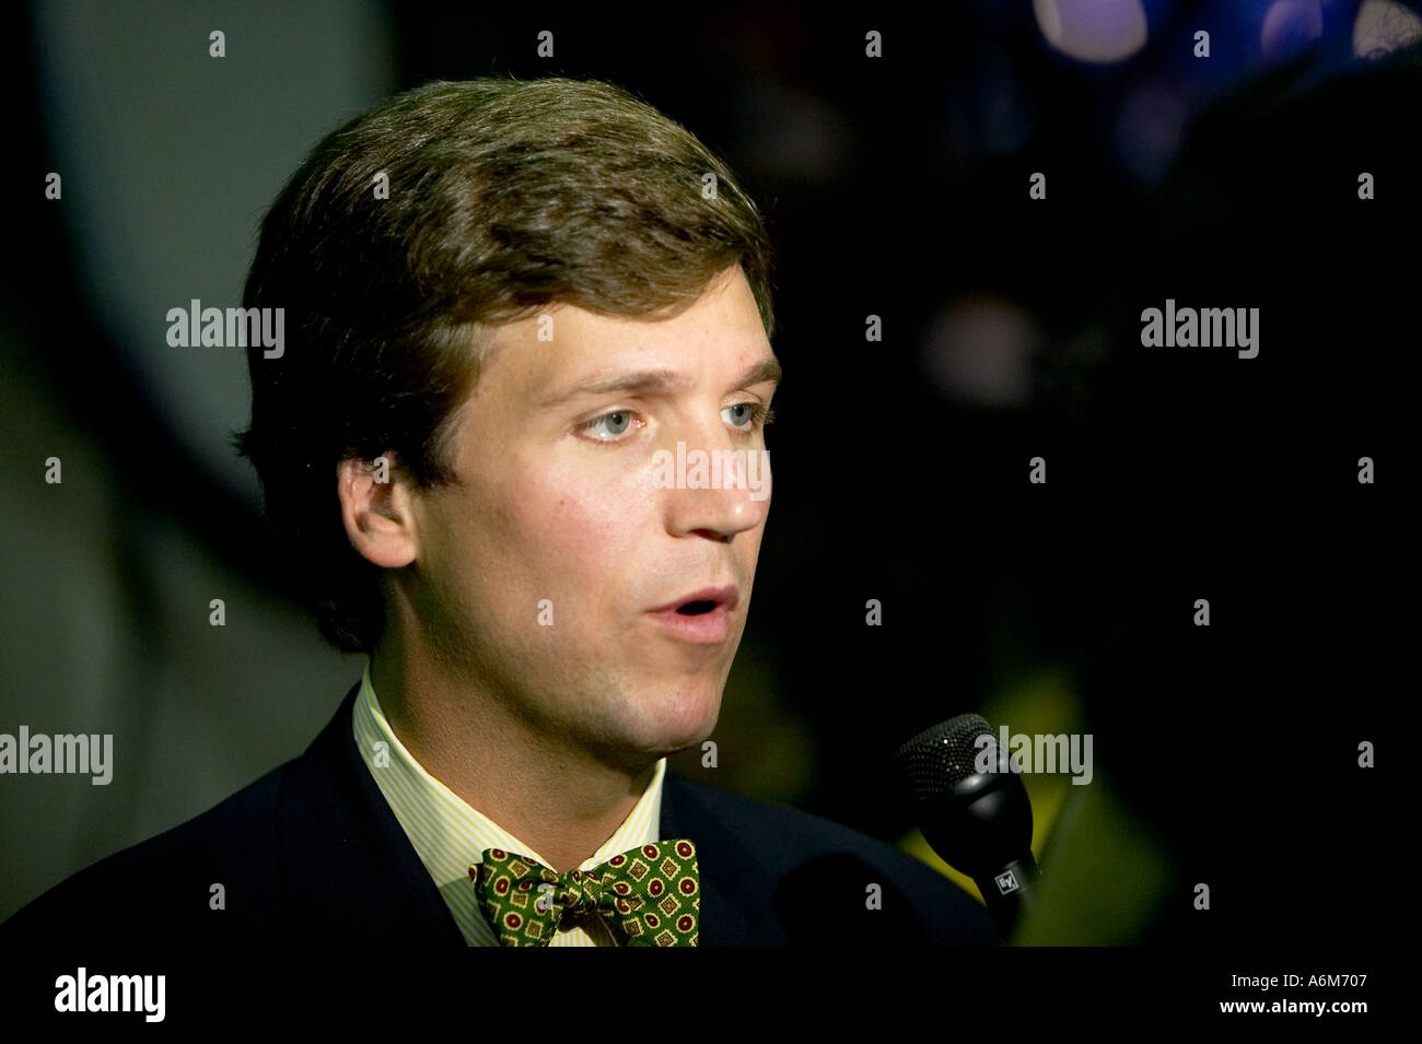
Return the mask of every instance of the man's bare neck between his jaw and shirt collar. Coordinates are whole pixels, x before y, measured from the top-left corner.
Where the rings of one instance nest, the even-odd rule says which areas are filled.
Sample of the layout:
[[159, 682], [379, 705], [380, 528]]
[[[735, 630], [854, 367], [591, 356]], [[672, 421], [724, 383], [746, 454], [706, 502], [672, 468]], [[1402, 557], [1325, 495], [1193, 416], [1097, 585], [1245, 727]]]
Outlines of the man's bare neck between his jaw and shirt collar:
[[549, 736], [398, 642], [371, 653], [370, 675], [391, 730], [425, 771], [560, 874], [621, 827], [657, 767], [609, 764]]

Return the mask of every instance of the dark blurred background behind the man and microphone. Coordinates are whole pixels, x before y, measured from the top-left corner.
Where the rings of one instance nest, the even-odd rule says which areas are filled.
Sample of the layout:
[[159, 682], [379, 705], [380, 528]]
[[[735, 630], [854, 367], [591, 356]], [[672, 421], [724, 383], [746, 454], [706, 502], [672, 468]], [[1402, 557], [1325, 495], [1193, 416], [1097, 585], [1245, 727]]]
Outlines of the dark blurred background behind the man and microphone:
[[[0, 777], [0, 918], [296, 756], [360, 678], [226, 447], [242, 352], [169, 348], [165, 314], [237, 303], [326, 131], [512, 74], [610, 80], [685, 124], [778, 247], [755, 608], [718, 767], [674, 768], [931, 858], [889, 766], [907, 736], [964, 710], [1091, 733], [1091, 785], [1025, 780], [1055, 891], [1021, 942], [1379, 940], [1415, 689], [1418, 4], [940, 7], [16, 11], [0, 732], [114, 733], [115, 776]], [[1166, 298], [1260, 308], [1258, 357], [1142, 347]]]

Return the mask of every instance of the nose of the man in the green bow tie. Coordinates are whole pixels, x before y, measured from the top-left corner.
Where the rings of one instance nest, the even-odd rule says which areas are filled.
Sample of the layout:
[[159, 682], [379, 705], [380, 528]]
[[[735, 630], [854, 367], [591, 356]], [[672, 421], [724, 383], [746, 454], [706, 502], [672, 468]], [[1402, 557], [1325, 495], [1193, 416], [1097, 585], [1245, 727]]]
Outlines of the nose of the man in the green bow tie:
[[737, 436], [724, 420], [680, 428], [658, 447], [667, 530], [729, 543], [765, 521], [771, 455], [761, 439]]

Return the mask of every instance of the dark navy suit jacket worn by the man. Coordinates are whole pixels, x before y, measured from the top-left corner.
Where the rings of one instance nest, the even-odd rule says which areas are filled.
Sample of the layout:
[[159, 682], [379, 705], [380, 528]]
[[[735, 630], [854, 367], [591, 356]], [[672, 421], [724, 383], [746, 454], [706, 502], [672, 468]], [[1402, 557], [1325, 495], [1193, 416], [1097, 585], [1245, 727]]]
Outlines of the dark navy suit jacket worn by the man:
[[[0, 950], [63, 943], [117, 956], [284, 940], [462, 947], [356, 749], [358, 690], [300, 757], [21, 909], [0, 925]], [[953, 882], [815, 815], [668, 774], [661, 837], [697, 844], [701, 946], [1001, 943], [985, 910]], [[210, 909], [213, 883], [223, 885], [225, 909]], [[866, 908], [870, 883], [883, 889], [882, 909]]]

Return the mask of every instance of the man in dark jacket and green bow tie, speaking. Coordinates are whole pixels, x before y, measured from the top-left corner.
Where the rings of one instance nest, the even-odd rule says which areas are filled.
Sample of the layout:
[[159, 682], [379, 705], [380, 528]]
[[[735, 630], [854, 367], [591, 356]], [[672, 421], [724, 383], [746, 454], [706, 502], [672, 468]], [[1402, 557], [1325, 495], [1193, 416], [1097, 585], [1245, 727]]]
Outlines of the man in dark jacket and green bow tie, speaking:
[[323, 141], [247, 280], [286, 334], [240, 449], [368, 668], [301, 757], [11, 939], [1000, 942], [893, 848], [665, 774], [751, 604], [769, 254], [725, 165], [604, 84], [429, 84]]

